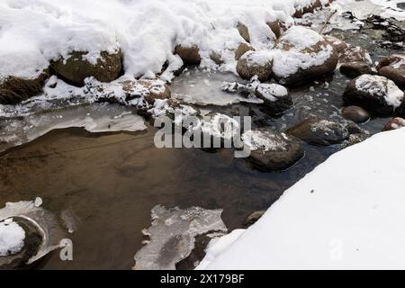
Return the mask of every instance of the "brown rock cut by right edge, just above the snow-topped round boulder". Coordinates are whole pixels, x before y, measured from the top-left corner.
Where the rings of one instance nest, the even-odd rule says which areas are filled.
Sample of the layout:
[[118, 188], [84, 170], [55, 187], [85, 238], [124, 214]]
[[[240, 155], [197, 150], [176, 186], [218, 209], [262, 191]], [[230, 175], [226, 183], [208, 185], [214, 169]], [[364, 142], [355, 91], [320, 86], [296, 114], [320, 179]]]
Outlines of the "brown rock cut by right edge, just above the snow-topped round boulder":
[[378, 65], [378, 74], [391, 79], [401, 89], [405, 89], [405, 55], [393, 54], [383, 58]]

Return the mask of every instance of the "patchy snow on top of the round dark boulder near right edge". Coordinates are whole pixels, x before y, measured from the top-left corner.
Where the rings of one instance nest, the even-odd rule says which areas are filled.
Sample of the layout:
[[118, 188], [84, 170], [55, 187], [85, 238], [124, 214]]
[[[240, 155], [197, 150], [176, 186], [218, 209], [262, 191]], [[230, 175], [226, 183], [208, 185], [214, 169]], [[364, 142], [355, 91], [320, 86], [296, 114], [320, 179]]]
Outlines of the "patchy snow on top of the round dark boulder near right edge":
[[368, 94], [383, 96], [393, 108], [401, 106], [403, 91], [383, 76], [362, 75], [356, 78], [356, 88]]

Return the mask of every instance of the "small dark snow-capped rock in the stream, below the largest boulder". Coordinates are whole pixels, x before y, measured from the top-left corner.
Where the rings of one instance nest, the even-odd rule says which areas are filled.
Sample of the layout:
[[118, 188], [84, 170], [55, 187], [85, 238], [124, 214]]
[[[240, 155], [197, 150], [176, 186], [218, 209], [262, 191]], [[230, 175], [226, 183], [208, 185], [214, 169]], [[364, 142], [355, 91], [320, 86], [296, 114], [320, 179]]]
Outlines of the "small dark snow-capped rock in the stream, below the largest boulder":
[[255, 94], [264, 101], [264, 111], [272, 116], [278, 116], [293, 106], [293, 97], [283, 85], [259, 84]]

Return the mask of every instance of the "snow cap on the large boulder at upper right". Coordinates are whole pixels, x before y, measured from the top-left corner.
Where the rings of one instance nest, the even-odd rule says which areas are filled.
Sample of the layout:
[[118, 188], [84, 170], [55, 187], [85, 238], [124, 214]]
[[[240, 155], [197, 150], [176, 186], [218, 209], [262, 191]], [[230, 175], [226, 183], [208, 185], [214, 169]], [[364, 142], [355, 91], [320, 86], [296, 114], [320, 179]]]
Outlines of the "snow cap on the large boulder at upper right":
[[[305, 37], [302, 37], [305, 35]], [[320, 66], [332, 54], [333, 48], [329, 43], [322, 44], [320, 51], [311, 51], [310, 47], [324, 40], [316, 31], [302, 26], [290, 28], [279, 39], [273, 52], [273, 73], [279, 77], [288, 77], [299, 69]], [[290, 47], [290, 44], [293, 47]], [[284, 45], [288, 49], [284, 48]], [[310, 51], [308, 51], [310, 49]]]

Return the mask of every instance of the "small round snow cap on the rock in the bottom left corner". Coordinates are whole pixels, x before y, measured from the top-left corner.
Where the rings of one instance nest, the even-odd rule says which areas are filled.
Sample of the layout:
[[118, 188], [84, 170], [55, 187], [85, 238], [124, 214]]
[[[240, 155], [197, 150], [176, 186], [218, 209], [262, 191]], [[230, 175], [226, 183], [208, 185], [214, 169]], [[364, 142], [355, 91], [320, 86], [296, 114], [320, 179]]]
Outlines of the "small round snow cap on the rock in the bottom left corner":
[[14, 255], [24, 245], [25, 231], [13, 219], [0, 222], [0, 257]]

